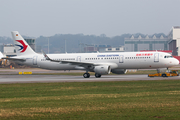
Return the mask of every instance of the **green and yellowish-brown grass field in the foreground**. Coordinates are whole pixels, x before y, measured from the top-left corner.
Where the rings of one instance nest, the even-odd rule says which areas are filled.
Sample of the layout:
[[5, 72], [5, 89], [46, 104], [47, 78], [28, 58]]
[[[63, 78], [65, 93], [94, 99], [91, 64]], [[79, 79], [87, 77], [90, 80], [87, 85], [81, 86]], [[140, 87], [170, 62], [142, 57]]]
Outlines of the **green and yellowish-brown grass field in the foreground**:
[[180, 119], [180, 80], [0, 84], [3, 119]]

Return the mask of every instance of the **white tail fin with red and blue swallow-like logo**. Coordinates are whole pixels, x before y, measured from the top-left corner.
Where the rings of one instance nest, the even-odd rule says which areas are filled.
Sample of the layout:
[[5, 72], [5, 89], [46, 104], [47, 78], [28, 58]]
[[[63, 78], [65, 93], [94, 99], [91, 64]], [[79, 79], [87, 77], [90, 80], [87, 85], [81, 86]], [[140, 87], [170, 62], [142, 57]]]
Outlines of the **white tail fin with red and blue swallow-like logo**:
[[12, 31], [11, 33], [17, 56], [36, 54], [33, 49], [27, 44], [27, 42], [23, 39], [23, 37], [19, 34], [18, 31]]

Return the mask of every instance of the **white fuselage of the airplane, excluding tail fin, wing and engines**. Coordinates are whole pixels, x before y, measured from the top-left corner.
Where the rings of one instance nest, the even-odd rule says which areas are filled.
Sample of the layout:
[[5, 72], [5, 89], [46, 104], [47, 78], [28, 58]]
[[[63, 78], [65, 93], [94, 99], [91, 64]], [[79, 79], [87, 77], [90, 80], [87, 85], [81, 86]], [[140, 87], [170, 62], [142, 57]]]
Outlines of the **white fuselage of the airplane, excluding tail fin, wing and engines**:
[[[115, 52], [115, 53], [72, 53], [47, 54], [53, 60], [74, 61], [109, 65], [111, 69], [158, 69], [179, 64], [179, 61], [163, 52]], [[17, 56], [22, 57], [22, 56]], [[51, 70], [79, 70], [83, 67], [70, 63], [52, 62], [42, 54], [23, 56], [22, 64]]]

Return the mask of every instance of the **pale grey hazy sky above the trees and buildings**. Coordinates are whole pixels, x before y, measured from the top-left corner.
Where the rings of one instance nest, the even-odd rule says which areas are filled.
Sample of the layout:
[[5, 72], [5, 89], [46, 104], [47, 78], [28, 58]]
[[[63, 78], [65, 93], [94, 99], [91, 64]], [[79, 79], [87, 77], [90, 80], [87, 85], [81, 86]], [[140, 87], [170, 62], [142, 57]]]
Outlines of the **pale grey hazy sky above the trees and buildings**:
[[165, 33], [180, 26], [180, 0], [0, 0], [0, 36]]

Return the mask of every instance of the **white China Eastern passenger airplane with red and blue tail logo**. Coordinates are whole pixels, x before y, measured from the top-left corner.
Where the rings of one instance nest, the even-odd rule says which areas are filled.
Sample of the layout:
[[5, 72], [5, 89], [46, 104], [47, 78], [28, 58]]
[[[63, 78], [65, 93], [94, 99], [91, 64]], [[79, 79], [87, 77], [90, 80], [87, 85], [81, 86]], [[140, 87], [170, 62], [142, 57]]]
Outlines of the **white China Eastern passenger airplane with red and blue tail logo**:
[[50, 70], [84, 70], [84, 78], [89, 78], [88, 72], [95, 72], [95, 77], [101, 75], [125, 74], [127, 69], [160, 69], [179, 64], [176, 58], [165, 52], [111, 52], [111, 53], [66, 53], [42, 54], [36, 53], [27, 44], [18, 31], [12, 31], [17, 56], [2, 59], [33, 67]]

